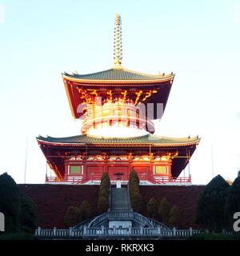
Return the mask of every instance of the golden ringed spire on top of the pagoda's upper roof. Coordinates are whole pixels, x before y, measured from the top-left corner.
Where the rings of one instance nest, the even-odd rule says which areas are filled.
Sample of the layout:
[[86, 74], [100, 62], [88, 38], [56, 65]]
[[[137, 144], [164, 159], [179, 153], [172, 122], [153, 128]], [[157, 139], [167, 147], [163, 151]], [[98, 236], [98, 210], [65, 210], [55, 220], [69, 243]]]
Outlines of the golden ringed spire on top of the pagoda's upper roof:
[[114, 27], [114, 68], [122, 67], [122, 27], [121, 16], [116, 14]]

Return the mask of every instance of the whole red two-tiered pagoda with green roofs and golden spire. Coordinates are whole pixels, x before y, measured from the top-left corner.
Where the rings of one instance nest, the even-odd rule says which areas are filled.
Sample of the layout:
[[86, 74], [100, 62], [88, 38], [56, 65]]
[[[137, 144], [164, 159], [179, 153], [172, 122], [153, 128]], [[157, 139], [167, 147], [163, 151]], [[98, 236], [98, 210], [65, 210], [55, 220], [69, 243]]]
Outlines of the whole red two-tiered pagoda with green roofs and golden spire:
[[38, 136], [38, 145], [54, 172], [46, 183], [127, 182], [131, 170], [142, 184], [191, 184], [179, 177], [198, 146], [194, 138], [154, 135], [162, 118], [174, 74], [142, 74], [122, 66], [122, 27], [114, 27], [114, 66], [93, 74], [62, 74], [70, 110], [82, 119], [82, 134], [67, 138]]

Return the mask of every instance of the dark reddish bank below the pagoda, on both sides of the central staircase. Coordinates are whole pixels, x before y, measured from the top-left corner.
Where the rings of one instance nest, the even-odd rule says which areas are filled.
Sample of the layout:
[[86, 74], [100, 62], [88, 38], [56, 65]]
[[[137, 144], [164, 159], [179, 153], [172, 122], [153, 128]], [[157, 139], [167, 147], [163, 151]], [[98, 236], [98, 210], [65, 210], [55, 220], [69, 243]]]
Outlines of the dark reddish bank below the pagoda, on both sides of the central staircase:
[[[65, 228], [63, 219], [69, 206], [80, 206], [83, 200], [90, 202], [93, 216], [98, 215], [98, 188], [94, 185], [48, 185], [19, 184], [19, 190], [25, 192], [38, 206], [38, 226], [43, 229]], [[181, 210], [179, 229], [188, 229], [194, 224], [194, 214], [200, 192], [205, 186], [140, 186], [143, 208], [141, 214], [148, 216], [146, 205], [154, 197], [158, 203], [167, 198], [171, 205]]]

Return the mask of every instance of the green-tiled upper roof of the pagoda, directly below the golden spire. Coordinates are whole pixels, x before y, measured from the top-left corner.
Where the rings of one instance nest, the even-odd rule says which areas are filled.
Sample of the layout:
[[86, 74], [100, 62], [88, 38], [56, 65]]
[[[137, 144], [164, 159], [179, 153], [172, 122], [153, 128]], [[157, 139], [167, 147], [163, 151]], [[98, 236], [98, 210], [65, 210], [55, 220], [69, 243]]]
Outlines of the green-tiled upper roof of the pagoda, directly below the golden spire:
[[79, 80], [106, 80], [106, 81], [121, 81], [121, 80], [134, 80], [134, 81], [142, 81], [142, 80], [166, 80], [167, 78], [174, 78], [174, 74], [144, 74], [140, 72], [135, 72], [131, 70], [126, 70], [124, 68], [112, 68], [110, 70], [103, 70], [97, 73], [92, 74], [67, 74], [66, 72], [62, 74], [65, 78], [74, 78]]

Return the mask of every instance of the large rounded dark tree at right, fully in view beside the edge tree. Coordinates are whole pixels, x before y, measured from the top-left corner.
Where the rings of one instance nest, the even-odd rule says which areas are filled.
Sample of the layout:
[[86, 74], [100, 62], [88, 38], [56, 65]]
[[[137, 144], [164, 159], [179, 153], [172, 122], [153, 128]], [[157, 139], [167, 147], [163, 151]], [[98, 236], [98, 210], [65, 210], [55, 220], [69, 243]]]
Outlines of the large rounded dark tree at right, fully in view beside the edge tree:
[[213, 178], [198, 198], [195, 223], [210, 231], [222, 231], [226, 226], [225, 206], [230, 185], [221, 175]]

